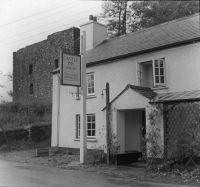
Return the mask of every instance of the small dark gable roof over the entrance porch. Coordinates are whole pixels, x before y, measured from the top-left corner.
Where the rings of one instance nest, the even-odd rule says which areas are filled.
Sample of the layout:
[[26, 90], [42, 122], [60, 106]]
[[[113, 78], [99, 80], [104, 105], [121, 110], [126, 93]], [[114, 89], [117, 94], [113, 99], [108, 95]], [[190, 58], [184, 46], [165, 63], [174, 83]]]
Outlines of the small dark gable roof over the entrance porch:
[[[150, 100], [152, 100], [157, 95], [157, 93], [155, 93], [151, 88], [128, 84], [114, 99], [110, 101], [110, 104], [116, 101], [129, 88]], [[102, 110], [105, 109], [106, 107], [104, 107]]]

